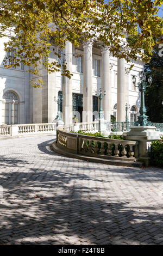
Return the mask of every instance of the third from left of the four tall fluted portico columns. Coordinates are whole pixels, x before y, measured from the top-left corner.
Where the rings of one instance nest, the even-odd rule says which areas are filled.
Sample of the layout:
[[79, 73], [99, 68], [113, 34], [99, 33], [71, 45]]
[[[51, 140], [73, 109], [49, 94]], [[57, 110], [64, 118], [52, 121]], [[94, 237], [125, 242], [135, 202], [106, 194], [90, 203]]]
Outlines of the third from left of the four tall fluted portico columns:
[[110, 63], [109, 63], [109, 48], [102, 47], [102, 92], [106, 91], [103, 98], [104, 118], [110, 121], [111, 115], [111, 83], [110, 83]]

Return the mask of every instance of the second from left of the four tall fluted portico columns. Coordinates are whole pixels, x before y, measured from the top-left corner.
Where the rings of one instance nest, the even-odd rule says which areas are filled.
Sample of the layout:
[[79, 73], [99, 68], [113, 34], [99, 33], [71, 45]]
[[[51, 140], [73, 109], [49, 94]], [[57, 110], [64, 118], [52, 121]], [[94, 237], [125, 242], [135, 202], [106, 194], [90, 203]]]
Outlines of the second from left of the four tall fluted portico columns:
[[84, 72], [83, 72], [83, 121], [92, 121], [92, 41], [84, 46]]

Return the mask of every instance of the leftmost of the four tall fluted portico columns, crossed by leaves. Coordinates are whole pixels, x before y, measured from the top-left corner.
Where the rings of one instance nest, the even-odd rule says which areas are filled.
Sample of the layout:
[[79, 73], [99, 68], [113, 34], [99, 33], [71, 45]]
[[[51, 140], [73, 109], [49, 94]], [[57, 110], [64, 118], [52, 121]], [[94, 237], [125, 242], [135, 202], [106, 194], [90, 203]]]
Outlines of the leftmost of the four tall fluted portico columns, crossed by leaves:
[[[72, 44], [66, 41], [64, 49], [64, 61], [67, 69], [72, 73]], [[62, 80], [63, 92], [63, 116], [65, 125], [72, 123], [72, 79], [63, 76]]]

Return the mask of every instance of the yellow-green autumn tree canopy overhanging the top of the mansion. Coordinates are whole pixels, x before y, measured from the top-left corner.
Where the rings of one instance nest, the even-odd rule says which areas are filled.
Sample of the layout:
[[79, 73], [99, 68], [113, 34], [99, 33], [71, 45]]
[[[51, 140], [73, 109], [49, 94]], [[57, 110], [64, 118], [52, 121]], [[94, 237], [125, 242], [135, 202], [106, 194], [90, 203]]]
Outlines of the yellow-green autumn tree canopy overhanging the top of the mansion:
[[[90, 38], [102, 41], [119, 58], [149, 61], [155, 40], [162, 35], [162, 20], [156, 14], [161, 0], [0, 0], [0, 36], [12, 31], [5, 51], [16, 49], [4, 64], [22, 62], [29, 72], [39, 73], [38, 63], [48, 72], [58, 71], [58, 61], [49, 63], [49, 52], [65, 40], [79, 46]], [[125, 40], [126, 39], [126, 40]], [[71, 77], [63, 65], [62, 75]], [[41, 80], [33, 86], [40, 86]]]

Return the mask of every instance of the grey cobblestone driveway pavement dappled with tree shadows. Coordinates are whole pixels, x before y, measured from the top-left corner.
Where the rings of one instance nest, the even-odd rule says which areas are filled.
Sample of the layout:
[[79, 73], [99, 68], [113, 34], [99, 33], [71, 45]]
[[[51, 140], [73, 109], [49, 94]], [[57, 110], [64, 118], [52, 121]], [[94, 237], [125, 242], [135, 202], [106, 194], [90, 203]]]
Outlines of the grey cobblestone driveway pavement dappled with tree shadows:
[[63, 157], [54, 138], [0, 141], [0, 244], [163, 245], [163, 170]]

